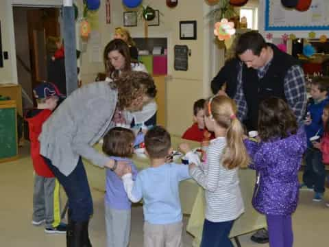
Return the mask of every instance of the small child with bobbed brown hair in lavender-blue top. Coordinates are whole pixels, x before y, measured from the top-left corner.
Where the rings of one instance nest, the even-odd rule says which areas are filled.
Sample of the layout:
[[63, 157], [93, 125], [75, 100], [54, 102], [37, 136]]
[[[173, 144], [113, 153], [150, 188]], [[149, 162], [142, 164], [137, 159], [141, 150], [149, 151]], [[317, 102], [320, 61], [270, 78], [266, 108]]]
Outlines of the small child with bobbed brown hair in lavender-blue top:
[[[128, 161], [135, 179], [137, 169], [130, 160], [134, 152], [134, 132], [127, 128], [112, 128], [103, 138], [103, 152], [114, 161]], [[106, 246], [127, 247], [130, 239], [132, 203], [127, 198], [122, 180], [111, 169], [106, 169], [105, 194]], [[120, 227], [118, 227], [120, 226]]]

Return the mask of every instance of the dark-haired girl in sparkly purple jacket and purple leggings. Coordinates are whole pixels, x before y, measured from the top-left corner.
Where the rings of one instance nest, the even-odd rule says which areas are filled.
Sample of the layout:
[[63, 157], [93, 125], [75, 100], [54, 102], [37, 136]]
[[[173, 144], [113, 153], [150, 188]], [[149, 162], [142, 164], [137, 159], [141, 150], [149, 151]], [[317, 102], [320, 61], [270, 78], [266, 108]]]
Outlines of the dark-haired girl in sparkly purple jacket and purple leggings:
[[260, 142], [245, 140], [257, 172], [252, 204], [266, 215], [270, 247], [292, 247], [291, 214], [297, 208], [297, 173], [306, 150], [304, 128], [297, 129], [289, 106], [277, 97], [260, 103]]

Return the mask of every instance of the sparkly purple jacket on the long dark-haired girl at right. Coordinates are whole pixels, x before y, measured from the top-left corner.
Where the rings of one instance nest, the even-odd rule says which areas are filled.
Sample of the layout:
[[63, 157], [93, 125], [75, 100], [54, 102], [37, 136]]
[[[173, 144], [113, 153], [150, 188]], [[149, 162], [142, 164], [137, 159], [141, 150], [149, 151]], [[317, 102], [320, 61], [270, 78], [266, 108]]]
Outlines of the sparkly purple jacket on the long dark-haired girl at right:
[[297, 208], [298, 170], [306, 150], [304, 127], [285, 139], [256, 143], [245, 140], [258, 174], [252, 204], [260, 213], [290, 215]]

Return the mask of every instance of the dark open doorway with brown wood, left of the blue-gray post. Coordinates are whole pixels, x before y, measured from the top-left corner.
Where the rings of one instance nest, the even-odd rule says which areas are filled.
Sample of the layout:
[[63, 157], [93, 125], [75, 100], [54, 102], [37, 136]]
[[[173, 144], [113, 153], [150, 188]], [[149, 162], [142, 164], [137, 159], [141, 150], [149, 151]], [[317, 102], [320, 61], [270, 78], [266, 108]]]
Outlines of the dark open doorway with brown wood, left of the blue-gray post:
[[[16, 67], [23, 108], [32, 107], [32, 89], [47, 80], [47, 37], [60, 36], [59, 8], [13, 7]], [[35, 102], [34, 102], [35, 104]]]

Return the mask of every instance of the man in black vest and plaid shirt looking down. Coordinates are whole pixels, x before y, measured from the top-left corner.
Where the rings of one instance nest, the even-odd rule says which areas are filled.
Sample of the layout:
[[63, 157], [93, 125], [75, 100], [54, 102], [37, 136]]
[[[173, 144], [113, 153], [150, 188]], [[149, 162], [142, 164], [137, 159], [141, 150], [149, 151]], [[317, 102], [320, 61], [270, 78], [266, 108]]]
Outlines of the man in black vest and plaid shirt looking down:
[[[284, 99], [301, 123], [306, 110], [306, 87], [298, 61], [275, 45], [266, 43], [256, 31], [240, 36], [236, 56], [243, 62], [243, 67], [237, 75], [234, 100], [238, 117], [247, 129], [258, 129], [259, 104], [270, 96]], [[257, 243], [266, 243], [268, 239], [265, 229], [252, 235], [252, 240]]]

